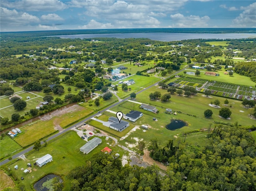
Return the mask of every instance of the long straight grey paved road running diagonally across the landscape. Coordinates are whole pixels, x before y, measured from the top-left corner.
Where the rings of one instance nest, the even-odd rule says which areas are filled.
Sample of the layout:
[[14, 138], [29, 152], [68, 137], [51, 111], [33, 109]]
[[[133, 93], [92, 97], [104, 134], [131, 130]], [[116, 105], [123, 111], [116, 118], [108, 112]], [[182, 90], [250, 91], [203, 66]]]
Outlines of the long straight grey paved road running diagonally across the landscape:
[[[187, 67], [188, 67], [188, 66], [184, 67], [183, 69], [177, 71], [176, 73], [174, 73], [174, 74], [172, 74], [172, 75], [176, 75], [176, 74], [180, 73], [181, 71], [184, 71]], [[170, 75], [169, 75], [168, 77], [170, 77]], [[166, 78], [168, 78], [168, 77], [166, 77]], [[164, 78], [164, 79], [166, 79], [166, 78]], [[162, 80], [160, 80], [160, 81], [158, 81], [158, 82], [156, 82], [156, 83], [154, 83], [154, 84], [152, 84], [152, 85], [150, 85], [150, 86], [148, 86], [148, 87], [146, 87], [146, 88], [144, 88], [144, 89], [141, 89], [141, 90], [138, 91], [136, 94], [139, 94], [139, 93], [142, 93], [142, 92], [146, 91], [147, 89], [149, 89], [149, 88], [151, 88], [151, 87], [157, 85], [159, 82], [163, 81], [164, 79], [162, 79]], [[112, 107], [114, 107], [114, 106], [120, 104], [120, 102], [124, 102], [124, 101], [128, 100], [129, 98], [130, 98], [130, 97], [128, 96], [127, 98], [124, 98], [122, 101], [118, 101], [118, 102], [116, 102], [116, 103], [114, 103], [114, 104], [108, 106], [107, 108], [104, 108], [103, 110], [101, 110], [101, 112], [104, 112], [104, 111], [106, 111], [106, 110], [108, 110], [108, 109], [110, 109], [110, 108], [112, 108]], [[48, 142], [48, 141], [50, 141], [50, 140], [52, 140], [52, 139], [54, 139], [54, 138], [60, 136], [61, 134], [63, 134], [63, 133], [65, 133], [65, 132], [69, 131], [70, 129], [72, 129], [72, 128], [74, 128], [74, 127], [80, 125], [80, 124], [83, 124], [84, 122], [88, 121], [88, 120], [89, 120], [90, 118], [92, 118], [92, 117], [95, 117], [96, 115], [98, 115], [98, 113], [92, 114], [91, 116], [88, 116], [88, 117], [85, 118], [84, 120], [82, 120], [82, 121], [80, 121], [80, 122], [78, 122], [78, 123], [76, 123], [76, 124], [70, 126], [69, 128], [66, 128], [66, 129], [64, 129], [63, 131], [58, 132], [57, 134], [54, 134], [54, 135], [50, 136], [46, 141]], [[44, 142], [41, 142], [41, 144], [43, 144], [43, 143], [44, 143]], [[33, 147], [34, 147], [34, 146], [30, 146], [29, 148], [26, 148], [25, 150], [23, 150], [23, 151], [21, 151], [21, 152], [15, 154], [14, 156], [12, 156], [12, 159], [18, 158], [19, 156], [25, 154], [26, 152], [31, 151], [31, 150], [33, 149]], [[0, 162], [0, 165], [4, 165], [4, 164], [6, 164], [8, 161], [9, 161], [9, 159], [5, 159], [5, 160], [3, 160], [3, 161]]]

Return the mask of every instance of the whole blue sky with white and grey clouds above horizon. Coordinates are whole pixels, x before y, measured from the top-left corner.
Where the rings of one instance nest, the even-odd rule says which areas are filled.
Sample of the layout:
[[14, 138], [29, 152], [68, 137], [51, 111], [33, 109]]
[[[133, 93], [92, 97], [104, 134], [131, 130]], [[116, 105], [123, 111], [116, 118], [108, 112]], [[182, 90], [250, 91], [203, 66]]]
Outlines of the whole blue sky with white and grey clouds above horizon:
[[255, 0], [0, 0], [0, 31], [255, 28]]

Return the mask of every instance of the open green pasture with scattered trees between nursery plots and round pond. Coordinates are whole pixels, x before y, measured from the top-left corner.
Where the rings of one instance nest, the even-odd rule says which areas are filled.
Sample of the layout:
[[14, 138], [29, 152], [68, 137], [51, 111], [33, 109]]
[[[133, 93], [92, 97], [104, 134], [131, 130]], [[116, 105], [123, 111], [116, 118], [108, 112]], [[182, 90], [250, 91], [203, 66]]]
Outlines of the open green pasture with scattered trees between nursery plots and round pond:
[[[216, 120], [216, 121], [222, 121], [227, 123], [234, 123], [238, 121], [238, 123], [241, 125], [255, 124], [255, 120], [252, 120], [248, 117], [248, 114], [250, 114], [252, 109], [244, 108], [242, 106], [242, 102], [239, 100], [228, 99], [229, 104], [232, 104], [232, 108], [230, 108], [230, 110], [232, 111], [232, 115], [230, 116], [231, 120], [226, 120], [218, 117], [218, 111], [219, 111], [218, 108], [213, 108], [208, 105], [210, 104], [211, 101], [218, 99], [220, 100], [221, 107], [228, 107], [228, 106], [224, 106], [224, 100], [226, 98], [212, 96], [212, 95], [210, 97], [204, 97], [203, 96], [204, 94], [201, 94], [201, 93], [198, 93], [197, 95], [193, 95], [190, 97], [186, 97], [186, 96], [179, 96], [175, 93], [174, 95], [171, 95], [169, 102], [161, 102], [158, 100], [149, 99], [148, 97], [149, 94], [153, 93], [154, 91], [160, 91], [162, 95], [167, 93], [166, 89], [163, 90], [158, 88], [158, 86], [155, 86], [148, 89], [148, 91], [142, 92], [139, 95], [137, 95], [136, 99], [138, 100], [138, 102], [157, 105], [157, 108], [158, 106], [163, 108], [171, 108], [172, 110], [175, 110], [175, 111], [196, 115], [196, 118], [202, 118], [204, 121], [206, 121], [206, 118], [204, 118], [204, 111], [206, 109], [211, 109], [213, 111], [213, 116], [211, 119], [207, 119], [211, 123], [213, 123], [214, 120]], [[240, 112], [240, 110], [244, 112]], [[196, 125], [196, 126], [200, 126], [199, 124], [200, 123], [196, 123], [196, 124], [191, 123], [191, 125]], [[203, 122], [202, 124], [205, 124], [205, 122]]]

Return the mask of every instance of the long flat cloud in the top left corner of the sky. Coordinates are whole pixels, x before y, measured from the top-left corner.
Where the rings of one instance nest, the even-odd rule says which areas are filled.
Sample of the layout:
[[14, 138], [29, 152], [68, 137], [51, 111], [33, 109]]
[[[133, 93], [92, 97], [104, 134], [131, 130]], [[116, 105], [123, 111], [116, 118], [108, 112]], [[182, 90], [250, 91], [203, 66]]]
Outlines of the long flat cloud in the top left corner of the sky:
[[68, 8], [68, 6], [60, 0], [1, 0], [1, 6], [24, 11], [58, 11]]

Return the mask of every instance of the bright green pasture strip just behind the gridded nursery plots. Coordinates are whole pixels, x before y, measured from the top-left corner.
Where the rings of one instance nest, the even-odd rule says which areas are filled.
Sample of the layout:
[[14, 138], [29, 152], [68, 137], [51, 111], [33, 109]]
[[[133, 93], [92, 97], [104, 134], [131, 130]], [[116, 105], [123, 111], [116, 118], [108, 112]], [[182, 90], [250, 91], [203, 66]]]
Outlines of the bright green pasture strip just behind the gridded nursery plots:
[[[187, 69], [187, 72], [189, 71], [196, 71], [196, 69]], [[206, 71], [206, 70], [201, 70], [200, 71]], [[220, 76], [209, 76], [209, 75], [204, 75], [204, 73], [200, 73], [200, 75], [188, 75], [184, 74], [183, 72], [178, 73], [178, 75], [183, 75], [186, 77], [195, 77], [199, 79], [206, 79], [206, 80], [212, 80], [212, 81], [220, 81], [220, 82], [226, 82], [226, 83], [233, 83], [233, 84], [239, 84], [239, 85], [248, 85], [248, 86], [255, 86], [255, 82], [250, 80], [250, 77], [242, 76], [236, 73], [233, 73], [232, 76], [229, 75], [224, 75], [224, 72], [226, 72], [223, 68], [222, 70], [214, 71], [215, 73], [219, 73]], [[170, 81], [166, 83], [170, 83], [172, 81], [177, 80], [178, 78], [173, 78]]]

